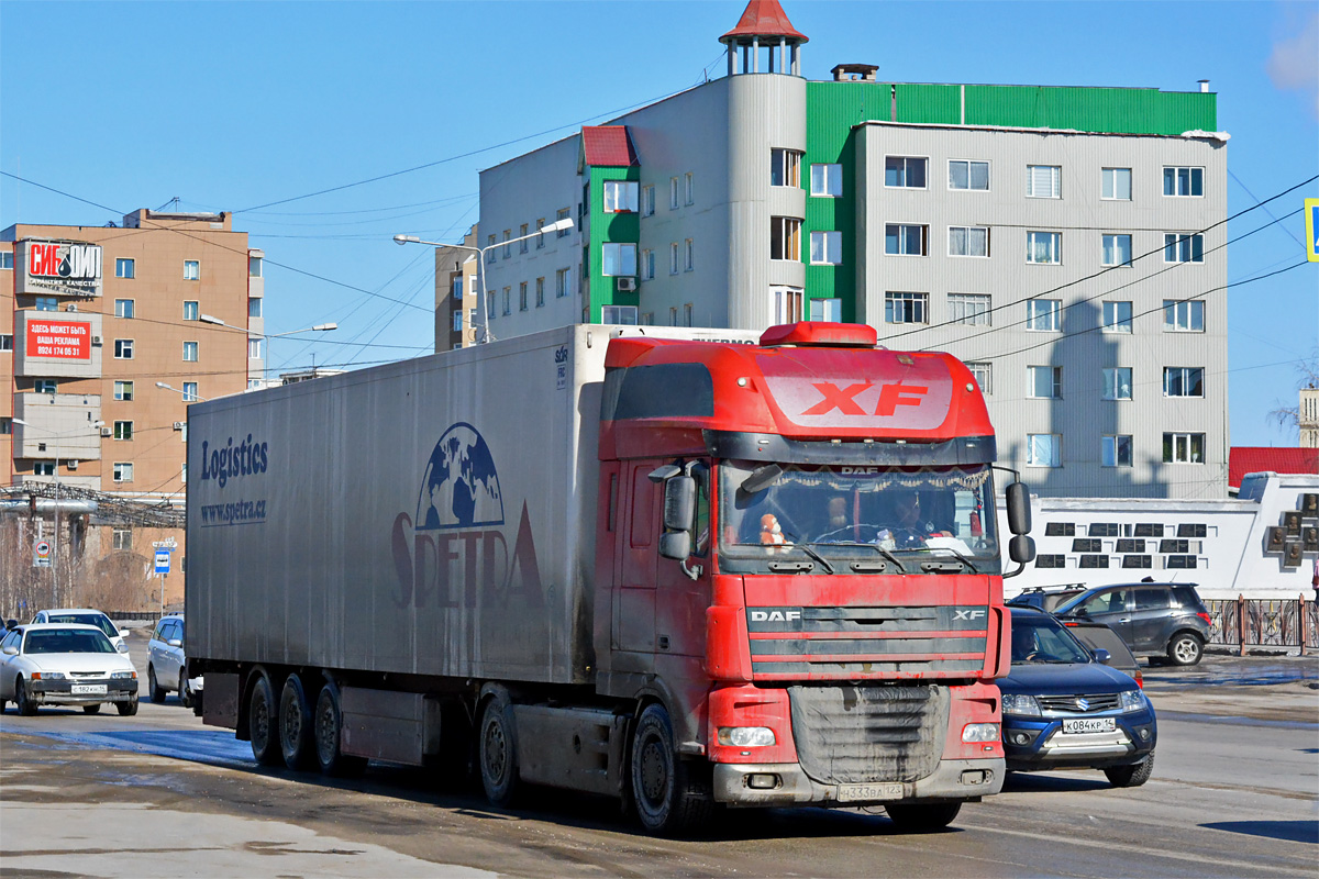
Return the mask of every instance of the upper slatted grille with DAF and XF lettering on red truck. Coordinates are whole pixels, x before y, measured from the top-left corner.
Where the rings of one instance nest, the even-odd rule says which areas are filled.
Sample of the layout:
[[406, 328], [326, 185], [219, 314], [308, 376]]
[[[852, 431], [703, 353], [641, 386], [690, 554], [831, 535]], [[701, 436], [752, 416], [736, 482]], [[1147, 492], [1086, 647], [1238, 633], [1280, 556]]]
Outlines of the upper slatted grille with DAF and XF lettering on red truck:
[[984, 668], [988, 608], [748, 608], [753, 679], [964, 677]]

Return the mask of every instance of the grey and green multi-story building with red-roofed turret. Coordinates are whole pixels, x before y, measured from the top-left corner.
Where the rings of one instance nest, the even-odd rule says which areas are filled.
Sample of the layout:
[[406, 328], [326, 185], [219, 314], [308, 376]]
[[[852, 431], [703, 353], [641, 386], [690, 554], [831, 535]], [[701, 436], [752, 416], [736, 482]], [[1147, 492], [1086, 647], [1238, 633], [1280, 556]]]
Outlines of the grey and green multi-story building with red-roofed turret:
[[[776, 0], [728, 75], [480, 177], [499, 337], [574, 322], [864, 322], [972, 364], [1005, 464], [1054, 496], [1227, 493], [1216, 96], [801, 75]], [[539, 291], [545, 291], [539, 295]]]

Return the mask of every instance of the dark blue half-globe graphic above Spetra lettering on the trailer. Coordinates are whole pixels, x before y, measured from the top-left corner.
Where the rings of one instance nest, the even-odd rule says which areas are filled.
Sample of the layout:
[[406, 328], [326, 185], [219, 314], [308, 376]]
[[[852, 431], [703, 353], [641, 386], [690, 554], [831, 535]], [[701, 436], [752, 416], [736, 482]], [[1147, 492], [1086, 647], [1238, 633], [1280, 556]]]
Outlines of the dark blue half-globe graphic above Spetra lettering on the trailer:
[[471, 424], [454, 424], [435, 443], [421, 485], [418, 531], [504, 525], [495, 459]]

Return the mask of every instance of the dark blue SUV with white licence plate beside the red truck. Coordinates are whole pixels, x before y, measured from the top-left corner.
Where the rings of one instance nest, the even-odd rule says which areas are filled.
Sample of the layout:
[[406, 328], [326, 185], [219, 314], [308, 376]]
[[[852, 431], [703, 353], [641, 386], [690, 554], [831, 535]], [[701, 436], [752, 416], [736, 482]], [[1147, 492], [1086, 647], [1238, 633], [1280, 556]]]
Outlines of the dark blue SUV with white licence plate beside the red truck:
[[1002, 746], [1018, 772], [1096, 768], [1136, 787], [1154, 768], [1154, 708], [1136, 680], [1091, 654], [1051, 614], [1012, 608], [1012, 667], [1002, 691]]

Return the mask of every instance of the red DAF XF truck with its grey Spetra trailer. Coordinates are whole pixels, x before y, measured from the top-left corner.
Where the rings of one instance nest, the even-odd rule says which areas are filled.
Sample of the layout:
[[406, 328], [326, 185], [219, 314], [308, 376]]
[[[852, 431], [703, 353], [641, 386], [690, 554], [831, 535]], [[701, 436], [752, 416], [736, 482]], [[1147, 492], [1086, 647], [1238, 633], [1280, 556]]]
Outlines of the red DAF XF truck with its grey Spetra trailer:
[[927, 829], [996, 793], [975, 380], [863, 326], [741, 336], [565, 327], [190, 407], [206, 722], [294, 770], [616, 796], [653, 833], [715, 803]]

